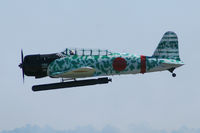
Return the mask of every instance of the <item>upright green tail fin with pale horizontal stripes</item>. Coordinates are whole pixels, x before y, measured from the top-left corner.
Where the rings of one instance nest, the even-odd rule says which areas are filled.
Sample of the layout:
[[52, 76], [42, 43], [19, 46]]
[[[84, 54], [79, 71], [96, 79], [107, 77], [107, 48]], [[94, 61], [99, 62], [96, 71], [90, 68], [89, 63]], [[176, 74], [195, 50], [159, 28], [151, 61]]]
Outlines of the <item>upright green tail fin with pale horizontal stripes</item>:
[[166, 32], [158, 47], [154, 51], [153, 57], [164, 59], [175, 59], [180, 61], [178, 50], [178, 37], [176, 33], [172, 31]]

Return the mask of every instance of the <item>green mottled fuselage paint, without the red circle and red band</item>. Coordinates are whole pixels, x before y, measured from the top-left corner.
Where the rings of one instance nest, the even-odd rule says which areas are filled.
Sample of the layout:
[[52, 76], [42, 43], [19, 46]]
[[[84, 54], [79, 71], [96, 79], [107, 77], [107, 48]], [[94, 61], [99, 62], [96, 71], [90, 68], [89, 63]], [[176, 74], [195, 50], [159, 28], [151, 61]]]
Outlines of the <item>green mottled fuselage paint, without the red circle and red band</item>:
[[[127, 66], [122, 71], [116, 71], [113, 68], [113, 60], [122, 57], [126, 60]], [[146, 58], [146, 72], [162, 71], [166, 64], [182, 64], [181, 61], [173, 59], [157, 59], [153, 57]], [[91, 67], [95, 69], [93, 76], [118, 75], [118, 74], [136, 74], [141, 71], [141, 57], [131, 54], [112, 54], [104, 56], [66, 56], [52, 62], [48, 67], [48, 75], [55, 76], [65, 72], [70, 72], [82, 67]]]

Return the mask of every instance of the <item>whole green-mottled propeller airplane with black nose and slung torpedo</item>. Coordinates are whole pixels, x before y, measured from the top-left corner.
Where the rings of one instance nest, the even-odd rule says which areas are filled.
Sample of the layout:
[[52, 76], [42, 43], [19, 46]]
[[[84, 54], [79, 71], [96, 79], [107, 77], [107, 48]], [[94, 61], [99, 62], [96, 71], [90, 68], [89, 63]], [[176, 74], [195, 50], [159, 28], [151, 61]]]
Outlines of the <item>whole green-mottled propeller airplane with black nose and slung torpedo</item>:
[[[168, 70], [176, 77], [174, 70], [184, 63], [179, 57], [178, 37], [172, 31], [166, 32], [152, 56], [117, 53], [95, 49], [65, 49], [60, 53], [35, 54], [23, 57], [19, 67], [24, 75], [35, 78], [61, 78], [59, 83], [34, 85], [33, 91], [60, 89], [112, 81], [107, 76], [138, 74]], [[106, 77], [105, 77], [106, 76]], [[84, 79], [101, 77], [98, 79]]]

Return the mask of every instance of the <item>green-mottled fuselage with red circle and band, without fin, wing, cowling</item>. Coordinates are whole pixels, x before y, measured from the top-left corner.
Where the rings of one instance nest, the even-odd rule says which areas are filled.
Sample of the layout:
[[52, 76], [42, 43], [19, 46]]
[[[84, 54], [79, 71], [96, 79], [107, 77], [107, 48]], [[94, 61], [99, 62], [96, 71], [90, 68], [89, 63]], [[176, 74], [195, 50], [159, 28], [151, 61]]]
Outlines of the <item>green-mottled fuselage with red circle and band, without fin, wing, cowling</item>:
[[[145, 58], [142, 60], [142, 58]], [[168, 66], [163, 64], [169, 64]], [[167, 70], [172, 67], [176, 68], [183, 62], [173, 59], [158, 59], [154, 57], [136, 56], [133, 54], [112, 53], [110, 55], [94, 55], [94, 56], [79, 56], [69, 55], [53, 61], [49, 67], [47, 74], [50, 77], [63, 78], [81, 78], [85, 76], [63, 75], [70, 71], [90, 67], [95, 71], [90, 76], [109, 76], [119, 74], [137, 74], [145, 72], [154, 72]], [[145, 69], [145, 70], [144, 70]], [[57, 76], [59, 75], [59, 76]]]

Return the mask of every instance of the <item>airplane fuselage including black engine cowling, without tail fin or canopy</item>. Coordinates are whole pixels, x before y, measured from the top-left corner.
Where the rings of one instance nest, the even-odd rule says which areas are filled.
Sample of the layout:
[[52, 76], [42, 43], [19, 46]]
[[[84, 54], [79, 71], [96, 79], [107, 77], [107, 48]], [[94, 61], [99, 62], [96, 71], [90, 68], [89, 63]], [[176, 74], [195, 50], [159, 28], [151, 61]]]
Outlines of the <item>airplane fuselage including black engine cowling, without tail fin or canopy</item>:
[[[85, 78], [94, 76], [110, 76], [120, 74], [137, 74], [175, 69], [183, 65], [176, 59], [156, 58], [153, 56], [138, 56], [129, 53], [91, 51], [85, 54], [78, 52], [61, 52], [54, 54], [27, 55], [23, 64], [25, 75], [35, 78]], [[85, 70], [92, 71], [87, 71]]]

